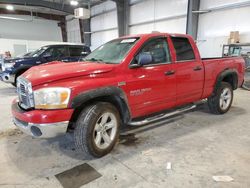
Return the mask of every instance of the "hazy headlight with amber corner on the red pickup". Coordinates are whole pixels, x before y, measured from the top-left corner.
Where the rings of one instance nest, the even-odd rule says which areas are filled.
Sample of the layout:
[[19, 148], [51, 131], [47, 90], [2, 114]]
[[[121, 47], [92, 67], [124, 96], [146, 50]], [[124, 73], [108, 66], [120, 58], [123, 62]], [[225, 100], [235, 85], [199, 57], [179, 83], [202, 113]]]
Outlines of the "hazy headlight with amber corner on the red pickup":
[[67, 108], [70, 89], [63, 87], [43, 88], [34, 91], [36, 109]]

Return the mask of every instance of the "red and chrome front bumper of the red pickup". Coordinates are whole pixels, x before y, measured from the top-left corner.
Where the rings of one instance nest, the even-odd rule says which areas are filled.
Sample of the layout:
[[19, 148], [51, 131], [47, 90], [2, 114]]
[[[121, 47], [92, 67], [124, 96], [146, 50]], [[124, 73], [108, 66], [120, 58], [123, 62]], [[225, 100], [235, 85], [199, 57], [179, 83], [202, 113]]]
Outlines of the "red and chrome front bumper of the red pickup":
[[73, 109], [30, 110], [21, 109], [16, 100], [12, 104], [14, 124], [33, 137], [51, 138], [65, 134]]

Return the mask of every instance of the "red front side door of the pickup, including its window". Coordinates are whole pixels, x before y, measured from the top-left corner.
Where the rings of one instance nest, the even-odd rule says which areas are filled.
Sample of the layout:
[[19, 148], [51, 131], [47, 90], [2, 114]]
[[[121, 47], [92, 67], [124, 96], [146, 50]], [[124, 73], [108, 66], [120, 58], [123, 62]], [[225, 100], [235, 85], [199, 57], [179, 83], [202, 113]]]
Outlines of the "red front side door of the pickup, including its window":
[[176, 101], [176, 78], [167, 38], [152, 38], [144, 43], [132, 64], [139, 63], [141, 53], [150, 54], [152, 62], [130, 69], [126, 90], [135, 117], [170, 108]]

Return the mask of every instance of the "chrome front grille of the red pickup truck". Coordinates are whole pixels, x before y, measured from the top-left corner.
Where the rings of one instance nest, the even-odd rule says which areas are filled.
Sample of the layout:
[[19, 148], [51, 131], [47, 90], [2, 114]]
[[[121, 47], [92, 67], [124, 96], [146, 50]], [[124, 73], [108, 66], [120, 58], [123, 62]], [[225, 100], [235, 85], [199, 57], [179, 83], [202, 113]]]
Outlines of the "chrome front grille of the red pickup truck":
[[23, 78], [17, 79], [17, 93], [19, 98], [19, 104], [24, 109], [34, 107], [33, 92], [30, 82]]

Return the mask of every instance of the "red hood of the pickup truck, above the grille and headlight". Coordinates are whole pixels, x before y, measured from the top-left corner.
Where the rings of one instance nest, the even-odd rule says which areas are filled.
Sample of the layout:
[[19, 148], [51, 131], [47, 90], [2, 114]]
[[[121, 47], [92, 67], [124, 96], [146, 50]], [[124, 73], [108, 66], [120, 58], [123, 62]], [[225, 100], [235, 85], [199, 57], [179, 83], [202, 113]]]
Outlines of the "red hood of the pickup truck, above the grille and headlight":
[[94, 62], [52, 63], [32, 67], [23, 76], [36, 86], [61, 79], [109, 72], [115, 66]]

